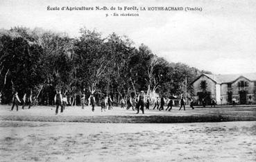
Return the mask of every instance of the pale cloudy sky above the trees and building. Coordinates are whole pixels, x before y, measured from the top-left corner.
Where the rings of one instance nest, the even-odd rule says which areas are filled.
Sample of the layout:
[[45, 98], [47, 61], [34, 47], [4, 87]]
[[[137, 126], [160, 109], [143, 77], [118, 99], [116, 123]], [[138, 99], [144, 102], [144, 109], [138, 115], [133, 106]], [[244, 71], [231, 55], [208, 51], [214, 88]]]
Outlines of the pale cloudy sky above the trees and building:
[[[173, 6], [183, 11], [49, 11], [51, 7]], [[185, 12], [185, 7], [200, 11]], [[138, 13], [139, 17], [105, 17]], [[80, 28], [104, 36], [127, 35], [135, 46], [146, 44], [169, 62], [182, 62], [213, 73], [256, 72], [256, 1], [40, 1], [0, 0], [0, 28], [40, 27], [78, 36]]]

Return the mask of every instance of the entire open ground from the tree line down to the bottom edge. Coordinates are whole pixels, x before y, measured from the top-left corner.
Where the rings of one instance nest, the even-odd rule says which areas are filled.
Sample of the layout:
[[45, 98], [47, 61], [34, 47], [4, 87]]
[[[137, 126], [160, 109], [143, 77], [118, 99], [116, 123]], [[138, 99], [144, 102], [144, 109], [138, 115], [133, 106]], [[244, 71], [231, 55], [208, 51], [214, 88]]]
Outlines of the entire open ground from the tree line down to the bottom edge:
[[256, 161], [255, 107], [54, 113], [1, 105], [0, 161]]

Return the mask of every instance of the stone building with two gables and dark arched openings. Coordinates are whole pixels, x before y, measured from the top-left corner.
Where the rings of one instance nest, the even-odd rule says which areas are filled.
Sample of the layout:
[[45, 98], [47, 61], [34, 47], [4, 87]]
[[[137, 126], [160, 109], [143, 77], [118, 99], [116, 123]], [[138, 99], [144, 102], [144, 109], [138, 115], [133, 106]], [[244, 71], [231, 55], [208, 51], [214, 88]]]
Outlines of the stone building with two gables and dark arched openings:
[[212, 98], [218, 105], [231, 104], [234, 98], [241, 105], [256, 103], [256, 73], [202, 74], [191, 85], [191, 93], [198, 105], [202, 104], [203, 98], [207, 105]]

